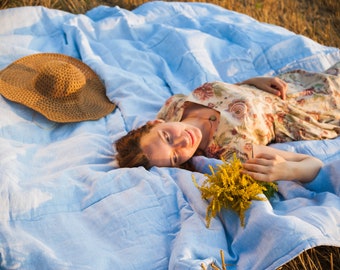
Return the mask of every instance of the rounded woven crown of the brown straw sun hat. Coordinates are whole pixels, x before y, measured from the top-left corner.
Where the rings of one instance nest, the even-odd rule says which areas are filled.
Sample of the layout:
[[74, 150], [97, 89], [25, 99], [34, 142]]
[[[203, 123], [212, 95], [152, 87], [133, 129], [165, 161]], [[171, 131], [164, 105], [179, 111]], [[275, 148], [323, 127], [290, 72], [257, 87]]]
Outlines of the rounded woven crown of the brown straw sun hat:
[[45, 96], [65, 98], [86, 84], [84, 74], [76, 66], [58, 60], [46, 62], [36, 77], [35, 87]]

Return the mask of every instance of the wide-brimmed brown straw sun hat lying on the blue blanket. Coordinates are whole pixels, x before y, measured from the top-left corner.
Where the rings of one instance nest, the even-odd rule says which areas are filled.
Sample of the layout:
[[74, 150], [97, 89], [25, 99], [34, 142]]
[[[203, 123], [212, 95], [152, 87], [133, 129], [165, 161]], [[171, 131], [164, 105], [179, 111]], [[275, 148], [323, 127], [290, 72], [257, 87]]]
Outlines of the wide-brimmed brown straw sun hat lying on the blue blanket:
[[97, 120], [116, 107], [89, 66], [56, 53], [29, 55], [0, 71], [0, 94], [59, 123]]

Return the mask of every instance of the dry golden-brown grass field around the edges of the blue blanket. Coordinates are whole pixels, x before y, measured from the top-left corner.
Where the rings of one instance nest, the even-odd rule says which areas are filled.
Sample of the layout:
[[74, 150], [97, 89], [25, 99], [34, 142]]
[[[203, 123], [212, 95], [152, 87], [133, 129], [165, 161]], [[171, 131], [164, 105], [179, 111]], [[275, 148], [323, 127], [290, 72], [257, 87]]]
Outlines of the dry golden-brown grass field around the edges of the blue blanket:
[[[0, 9], [42, 5], [72, 13], [84, 13], [98, 5], [133, 9], [143, 0], [1, 0]], [[276, 24], [323, 45], [340, 48], [339, 0], [198, 0], [247, 14], [261, 22]], [[339, 270], [340, 249], [317, 247], [302, 253], [280, 270]]]

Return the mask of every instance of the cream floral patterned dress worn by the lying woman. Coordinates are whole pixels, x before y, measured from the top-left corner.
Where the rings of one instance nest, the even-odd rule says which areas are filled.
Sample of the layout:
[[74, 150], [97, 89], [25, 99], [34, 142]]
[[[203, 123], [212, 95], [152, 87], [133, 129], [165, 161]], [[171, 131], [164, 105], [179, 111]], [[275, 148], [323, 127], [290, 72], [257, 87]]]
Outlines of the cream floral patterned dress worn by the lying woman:
[[287, 98], [250, 85], [205, 83], [190, 95], [174, 95], [158, 113], [180, 121], [185, 102], [213, 108], [220, 122], [206, 156], [249, 158], [252, 144], [320, 140], [340, 134], [340, 63], [324, 73], [296, 70], [278, 76], [288, 84]]

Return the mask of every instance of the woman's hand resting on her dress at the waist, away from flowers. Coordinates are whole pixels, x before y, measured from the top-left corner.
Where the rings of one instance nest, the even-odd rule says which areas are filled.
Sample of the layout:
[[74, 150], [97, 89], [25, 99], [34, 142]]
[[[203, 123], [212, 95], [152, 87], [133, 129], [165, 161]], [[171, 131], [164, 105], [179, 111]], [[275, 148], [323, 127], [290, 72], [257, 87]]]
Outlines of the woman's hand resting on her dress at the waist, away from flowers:
[[241, 84], [254, 85], [265, 92], [279, 96], [282, 99], [286, 99], [287, 83], [278, 77], [255, 77], [241, 83], [237, 83], [237, 85]]

